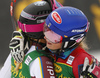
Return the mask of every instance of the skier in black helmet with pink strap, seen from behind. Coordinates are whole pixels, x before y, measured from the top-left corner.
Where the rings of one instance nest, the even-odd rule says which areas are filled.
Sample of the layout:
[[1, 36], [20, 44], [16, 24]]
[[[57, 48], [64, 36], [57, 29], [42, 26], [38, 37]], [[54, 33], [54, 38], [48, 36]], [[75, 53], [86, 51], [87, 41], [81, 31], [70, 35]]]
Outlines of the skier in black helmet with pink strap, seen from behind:
[[[31, 76], [32, 78], [34, 77], [55, 78], [55, 73], [53, 71], [53, 64], [50, 61], [50, 59], [48, 59], [45, 56], [42, 56], [45, 54], [42, 53], [38, 54], [38, 52], [36, 53], [35, 50], [36, 50], [36, 46], [38, 49], [42, 49], [42, 47], [45, 46], [45, 40], [43, 39], [43, 32], [42, 32], [44, 20], [52, 10], [58, 8], [59, 6], [61, 5], [56, 1], [50, 2], [49, 0], [46, 0], [46, 1], [39, 1], [39, 2], [32, 3], [22, 11], [18, 21], [18, 25], [21, 30], [14, 31], [12, 36], [13, 38], [10, 41], [10, 50], [13, 58], [11, 59], [11, 55], [9, 55], [9, 57], [7, 58], [4, 66], [0, 71], [1, 74], [0, 78], [11, 78], [11, 77], [17, 78], [18, 76], [22, 76], [22, 77], [27, 76], [28, 78], [30, 78], [29, 76]], [[31, 51], [35, 51], [35, 52], [31, 52]], [[31, 56], [32, 53], [33, 56]], [[12, 62], [10, 61], [10, 59], [12, 60]], [[12, 65], [10, 64], [10, 62]], [[27, 65], [27, 66], [25, 67], [22, 65]], [[30, 68], [29, 69], [30, 75], [29, 75], [29, 71], [27, 74], [24, 72], [23, 75], [24, 69], [26, 68], [27, 70], [28, 66]], [[10, 69], [12, 72], [12, 76], [10, 74], [11, 73]]]

